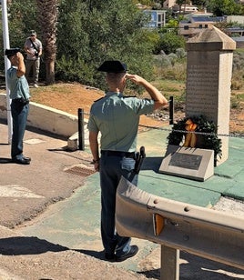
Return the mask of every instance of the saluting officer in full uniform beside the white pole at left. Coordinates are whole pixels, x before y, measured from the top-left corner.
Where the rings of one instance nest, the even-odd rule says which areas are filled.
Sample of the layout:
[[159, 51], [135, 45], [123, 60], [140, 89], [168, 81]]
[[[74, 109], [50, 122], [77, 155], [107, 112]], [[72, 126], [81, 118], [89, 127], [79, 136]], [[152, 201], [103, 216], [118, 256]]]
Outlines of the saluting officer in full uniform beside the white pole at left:
[[5, 55], [11, 62], [6, 71], [6, 82], [10, 90], [13, 135], [11, 145], [12, 161], [19, 165], [29, 165], [30, 157], [23, 155], [23, 138], [29, 113], [29, 85], [25, 78], [24, 57], [19, 48], [6, 49]]

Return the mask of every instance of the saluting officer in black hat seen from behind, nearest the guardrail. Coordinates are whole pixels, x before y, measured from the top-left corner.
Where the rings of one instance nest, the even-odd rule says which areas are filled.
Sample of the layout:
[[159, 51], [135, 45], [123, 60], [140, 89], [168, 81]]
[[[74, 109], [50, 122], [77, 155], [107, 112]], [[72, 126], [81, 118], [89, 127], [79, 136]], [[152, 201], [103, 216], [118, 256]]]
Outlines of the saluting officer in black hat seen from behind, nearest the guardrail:
[[[95, 169], [100, 173], [101, 236], [105, 258], [121, 262], [137, 254], [137, 245], [130, 245], [130, 237], [117, 235], [115, 229], [116, 193], [121, 175], [137, 185], [135, 154], [140, 115], [152, 113], [167, 105], [158, 89], [139, 75], [127, 74], [127, 65], [120, 61], [106, 61], [97, 69], [106, 72], [108, 91], [91, 107], [88, 121], [89, 144]], [[123, 96], [127, 79], [142, 85], [151, 99]], [[101, 133], [101, 157], [98, 133]]]

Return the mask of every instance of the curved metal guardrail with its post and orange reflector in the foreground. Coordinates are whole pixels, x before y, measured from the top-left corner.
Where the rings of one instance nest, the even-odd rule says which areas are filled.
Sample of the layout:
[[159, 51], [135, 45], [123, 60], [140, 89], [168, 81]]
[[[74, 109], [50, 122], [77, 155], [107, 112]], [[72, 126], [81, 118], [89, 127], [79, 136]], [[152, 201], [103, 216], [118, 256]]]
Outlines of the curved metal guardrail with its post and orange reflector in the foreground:
[[161, 280], [179, 279], [179, 250], [244, 268], [244, 218], [147, 194], [124, 177], [116, 226], [119, 235], [161, 245]]

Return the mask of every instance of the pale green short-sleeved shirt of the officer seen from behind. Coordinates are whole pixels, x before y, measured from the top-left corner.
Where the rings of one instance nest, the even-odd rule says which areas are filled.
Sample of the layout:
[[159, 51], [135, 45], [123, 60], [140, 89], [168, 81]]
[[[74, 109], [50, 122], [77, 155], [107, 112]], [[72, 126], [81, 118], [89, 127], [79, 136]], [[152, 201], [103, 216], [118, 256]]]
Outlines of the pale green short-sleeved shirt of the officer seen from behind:
[[88, 130], [101, 132], [101, 149], [122, 152], [137, 150], [140, 115], [152, 113], [154, 101], [108, 92], [91, 107]]

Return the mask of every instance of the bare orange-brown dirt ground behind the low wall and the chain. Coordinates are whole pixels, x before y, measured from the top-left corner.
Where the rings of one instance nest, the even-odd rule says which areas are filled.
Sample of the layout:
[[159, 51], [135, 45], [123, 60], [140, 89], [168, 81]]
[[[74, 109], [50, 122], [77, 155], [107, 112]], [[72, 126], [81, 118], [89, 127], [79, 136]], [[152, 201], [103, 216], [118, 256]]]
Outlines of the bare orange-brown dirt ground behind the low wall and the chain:
[[[93, 102], [104, 96], [103, 91], [78, 83], [57, 83], [52, 86], [40, 86], [37, 89], [31, 88], [31, 94], [31, 101], [51, 106], [72, 115], [77, 115], [78, 108], [84, 109], [85, 115], [88, 115]], [[229, 122], [229, 131], [231, 133], [244, 133], [244, 112], [242, 106], [231, 109]], [[164, 110], [163, 113], [165, 117], [160, 118], [159, 121], [158, 118], [142, 115], [140, 124], [149, 126], [168, 125], [168, 110]], [[184, 112], [175, 111], [175, 121], [182, 117], [184, 117]]]

